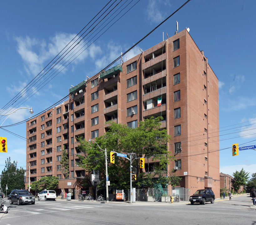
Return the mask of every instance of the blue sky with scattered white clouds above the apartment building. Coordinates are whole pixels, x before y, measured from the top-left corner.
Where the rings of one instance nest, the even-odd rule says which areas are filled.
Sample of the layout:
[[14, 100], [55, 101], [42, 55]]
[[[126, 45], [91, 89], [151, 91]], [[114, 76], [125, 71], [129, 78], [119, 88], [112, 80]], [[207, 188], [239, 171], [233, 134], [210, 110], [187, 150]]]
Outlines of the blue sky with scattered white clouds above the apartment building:
[[[106, 2], [0, 1], [0, 108], [40, 73]], [[136, 2], [132, 1], [127, 8]], [[61, 72], [55, 73], [49, 83], [31, 85], [30, 95], [33, 96], [28, 98], [30, 95], [24, 93], [20, 98], [23, 101], [13, 105], [14, 108], [9, 106], [9, 112], [19, 107], [33, 107], [34, 114], [37, 114], [58, 102], [68, 95], [71, 85], [105, 68], [184, 2], [140, 0], [102, 36], [97, 40], [94, 38], [95, 42], [89, 41], [82, 48], [83, 52], [67, 67], [61, 68]], [[179, 31], [190, 28], [190, 35], [204, 51], [219, 80], [220, 172], [230, 175], [242, 168], [250, 173], [256, 172], [254, 150], [240, 151], [236, 157], [232, 157], [231, 150], [233, 143], [239, 146], [256, 144], [255, 8], [254, 0], [192, 0], [123, 57], [125, 61], [126, 57], [130, 59], [139, 54], [140, 48], [146, 50], [161, 42], [163, 32], [164, 39], [166, 32], [169, 37], [174, 35], [176, 21]], [[120, 9], [117, 17], [126, 11]], [[7, 119], [0, 117], [0, 124], [7, 126], [29, 117], [29, 110], [20, 109]], [[25, 123], [6, 129], [26, 137]], [[9, 156], [11, 160], [25, 164], [26, 141], [2, 129], [0, 132], [0, 136], [8, 138], [8, 153], [0, 155], [0, 171]], [[22, 166], [21, 163], [18, 166]]]

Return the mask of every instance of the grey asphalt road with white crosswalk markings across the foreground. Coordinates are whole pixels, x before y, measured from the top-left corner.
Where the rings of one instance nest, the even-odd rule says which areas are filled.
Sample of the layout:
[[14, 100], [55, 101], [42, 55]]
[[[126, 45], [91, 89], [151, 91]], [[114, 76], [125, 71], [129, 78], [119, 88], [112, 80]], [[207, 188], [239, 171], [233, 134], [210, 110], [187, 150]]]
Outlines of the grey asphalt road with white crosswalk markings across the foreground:
[[0, 225], [48, 224], [256, 224], [256, 207], [248, 195], [231, 201], [216, 199], [205, 205], [189, 202], [79, 202], [38, 201], [35, 205], [10, 205], [8, 214], [0, 212]]

